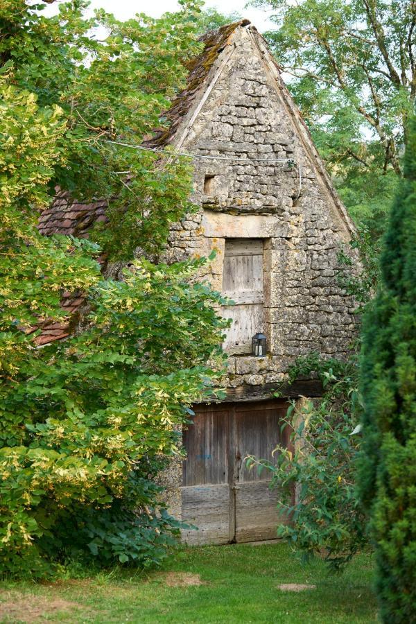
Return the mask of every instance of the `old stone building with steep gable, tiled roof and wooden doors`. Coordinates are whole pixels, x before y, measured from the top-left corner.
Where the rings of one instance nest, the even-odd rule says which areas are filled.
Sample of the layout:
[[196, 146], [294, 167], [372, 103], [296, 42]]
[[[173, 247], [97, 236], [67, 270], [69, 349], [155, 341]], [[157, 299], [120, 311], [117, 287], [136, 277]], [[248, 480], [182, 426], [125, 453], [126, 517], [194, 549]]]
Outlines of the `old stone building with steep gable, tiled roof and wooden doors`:
[[[205, 37], [187, 87], [168, 112], [170, 128], [148, 146], [194, 155], [193, 201], [199, 211], [173, 225], [164, 260], [207, 256], [217, 290], [234, 300], [224, 348], [227, 398], [196, 406], [184, 432], [188, 458], [166, 474], [173, 511], [199, 530], [191, 543], [275, 537], [275, 494], [265, 475], [245, 468], [248, 454], [271, 458], [288, 397], [318, 396], [313, 380], [274, 391], [297, 356], [343, 357], [354, 336], [354, 302], [337, 282], [338, 253], [354, 232], [302, 116], [266, 42], [247, 20]], [[105, 204], [58, 197], [41, 228], [72, 233], [105, 219]], [[70, 310], [78, 300], [67, 300]], [[264, 333], [266, 356], [252, 355]], [[42, 340], [64, 338], [49, 327]], [[284, 438], [281, 436], [284, 435]], [[285, 437], [286, 436], [286, 437]]]

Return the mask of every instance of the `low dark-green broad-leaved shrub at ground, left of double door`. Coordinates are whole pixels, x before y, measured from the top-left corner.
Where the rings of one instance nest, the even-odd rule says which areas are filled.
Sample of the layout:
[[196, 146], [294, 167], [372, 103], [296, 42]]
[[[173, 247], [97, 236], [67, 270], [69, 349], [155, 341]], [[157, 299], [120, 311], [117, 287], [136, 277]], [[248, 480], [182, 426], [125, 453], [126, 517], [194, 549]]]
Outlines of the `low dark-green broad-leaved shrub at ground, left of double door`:
[[160, 564], [169, 546], [176, 544], [180, 522], [162, 503], [162, 488], [152, 474], [128, 474], [122, 498], [114, 497], [101, 508], [71, 501], [59, 510], [53, 531], [38, 540], [50, 560], [79, 562], [83, 566], [108, 566], [115, 562], [140, 568]]

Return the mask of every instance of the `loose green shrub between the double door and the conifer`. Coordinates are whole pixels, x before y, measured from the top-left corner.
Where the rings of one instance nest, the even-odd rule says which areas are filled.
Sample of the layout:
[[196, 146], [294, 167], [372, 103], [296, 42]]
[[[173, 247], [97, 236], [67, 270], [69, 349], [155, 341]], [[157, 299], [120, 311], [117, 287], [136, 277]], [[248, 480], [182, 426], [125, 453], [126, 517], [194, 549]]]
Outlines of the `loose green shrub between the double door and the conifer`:
[[354, 432], [357, 370], [354, 361], [325, 361], [311, 354], [297, 361], [291, 379], [311, 372], [319, 374], [324, 396], [288, 409], [284, 426], [293, 428], [292, 448], [277, 447], [275, 465], [261, 458], [249, 458], [248, 465], [272, 472], [272, 485], [281, 496], [281, 519], [291, 521], [280, 524], [277, 535], [304, 560], [324, 553], [331, 568], [340, 569], [367, 541], [354, 485], [360, 443]]

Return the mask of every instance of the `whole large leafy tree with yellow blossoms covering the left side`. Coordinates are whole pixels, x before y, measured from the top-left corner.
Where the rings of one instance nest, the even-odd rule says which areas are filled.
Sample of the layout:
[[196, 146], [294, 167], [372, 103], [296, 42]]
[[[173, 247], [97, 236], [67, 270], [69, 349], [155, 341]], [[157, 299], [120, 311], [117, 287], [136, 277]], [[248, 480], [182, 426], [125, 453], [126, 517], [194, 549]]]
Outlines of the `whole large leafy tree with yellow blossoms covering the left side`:
[[[157, 250], [188, 209], [187, 167], [105, 141], [140, 143], [158, 123], [193, 47], [193, 5], [123, 24], [85, 20], [85, 6], [49, 19], [21, 0], [0, 9], [0, 573], [16, 576], [73, 555], [162, 559], [177, 523], [153, 478], [191, 404], [212, 396], [206, 362], [221, 365], [220, 295], [189, 283], [202, 260], [136, 260], [120, 282], [97, 262], [98, 239], [107, 259]], [[89, 39], [96, 24], [103, 42]], [[107, 197], [112, 235], [42, 236], [56, 185]], [[39, 349], [33, 328], [68, 320], [64, 291], [83, 292], [83, 331]]]

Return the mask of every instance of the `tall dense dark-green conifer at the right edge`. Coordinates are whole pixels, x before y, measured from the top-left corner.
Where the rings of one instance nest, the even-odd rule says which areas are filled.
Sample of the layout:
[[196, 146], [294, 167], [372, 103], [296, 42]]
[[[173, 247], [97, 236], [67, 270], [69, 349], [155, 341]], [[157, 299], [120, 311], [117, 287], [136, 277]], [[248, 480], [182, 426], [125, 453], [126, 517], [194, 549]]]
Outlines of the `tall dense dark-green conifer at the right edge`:
[[416, 621], [416, 122], [365, 315], [358, 485], [370, 514], [384, 622]]

